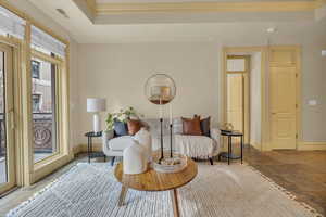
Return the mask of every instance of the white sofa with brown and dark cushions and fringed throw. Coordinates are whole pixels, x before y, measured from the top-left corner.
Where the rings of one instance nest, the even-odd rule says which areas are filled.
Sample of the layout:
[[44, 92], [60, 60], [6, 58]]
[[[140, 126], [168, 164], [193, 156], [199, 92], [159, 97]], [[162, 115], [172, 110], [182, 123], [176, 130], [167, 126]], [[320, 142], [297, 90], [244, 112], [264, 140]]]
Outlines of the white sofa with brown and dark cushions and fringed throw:
[[[159, 150], [160, 143], [160, 120], [159, 119], [143, 119], [145, 126], [149, 129], [152, 137], [153, 151]], [[220, 146], [220, 130], [211, 128], [211, 137], [205, 136], [188, 136], [181, 135], [183, 123], [181, 118], [175, 118], [173, 120], [173, 150], [185, 154], [192, 158], [210, 159], [213, 164], [213, 156], [218, 155], [221, 152]], [[108, 137], [108, 133], [103, 133], [103, 152], [106, 156], [112, 156], [112, 165], [116, 156], [123, 156], [123, 150], [127, 148], [133, 140], [133, 136], [122, 137]], [[170, 125], [168, 119], [163, 119], [163, 148], [170, 150]]]

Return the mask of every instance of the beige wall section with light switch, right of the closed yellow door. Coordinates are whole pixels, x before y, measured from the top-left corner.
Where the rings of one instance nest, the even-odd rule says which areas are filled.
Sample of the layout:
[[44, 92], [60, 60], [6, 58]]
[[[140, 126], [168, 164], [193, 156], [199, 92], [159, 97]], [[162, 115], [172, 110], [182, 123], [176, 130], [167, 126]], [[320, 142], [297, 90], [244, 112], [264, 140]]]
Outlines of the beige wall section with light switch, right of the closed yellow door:
[[[322, 56], [323, 48], [322, 44], [303, 47], [303, 138], [310, 142], [326, 141], [326, 58]], [[314, 99], [317, 105], [308, 105], [309, 100]]]

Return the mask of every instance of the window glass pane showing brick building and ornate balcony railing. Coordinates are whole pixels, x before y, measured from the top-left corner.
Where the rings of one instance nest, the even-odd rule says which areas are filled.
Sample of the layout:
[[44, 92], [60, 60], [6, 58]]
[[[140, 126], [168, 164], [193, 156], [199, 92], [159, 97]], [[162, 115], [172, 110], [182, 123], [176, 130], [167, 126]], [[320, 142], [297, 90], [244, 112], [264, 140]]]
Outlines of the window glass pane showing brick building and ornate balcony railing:
[[32, 71], [34, 162], [39, 162], [57, 152], [55, 65], [33, 58]]

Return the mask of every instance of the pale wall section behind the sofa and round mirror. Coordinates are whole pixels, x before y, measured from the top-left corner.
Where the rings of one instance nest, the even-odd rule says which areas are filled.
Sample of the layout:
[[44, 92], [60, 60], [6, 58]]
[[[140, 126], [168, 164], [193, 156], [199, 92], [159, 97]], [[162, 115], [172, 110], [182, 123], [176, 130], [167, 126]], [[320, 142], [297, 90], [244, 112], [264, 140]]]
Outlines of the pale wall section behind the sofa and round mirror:
[[214, 42], [80, 44], [80, 133], [91, 129], [88, 97], [106, 98], [108, 112], [135, 106], [146, 117], [158, 117], [159, 108], [148, 102], [143, 89], [147, 78], [159, 72], [176, 82], [175, 116], [210, 115], [216, 125], [220, 51]]

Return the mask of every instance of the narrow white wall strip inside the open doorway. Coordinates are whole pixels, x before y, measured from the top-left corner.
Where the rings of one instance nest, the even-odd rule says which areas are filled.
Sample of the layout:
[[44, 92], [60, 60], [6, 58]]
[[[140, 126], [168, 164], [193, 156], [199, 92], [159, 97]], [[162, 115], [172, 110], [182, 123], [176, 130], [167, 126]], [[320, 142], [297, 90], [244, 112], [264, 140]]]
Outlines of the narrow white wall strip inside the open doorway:
[[253, 53], [250, 59], [250, 143], [252, 145], [260, 145], [262, 142], [261, 67], [262, 53]]

